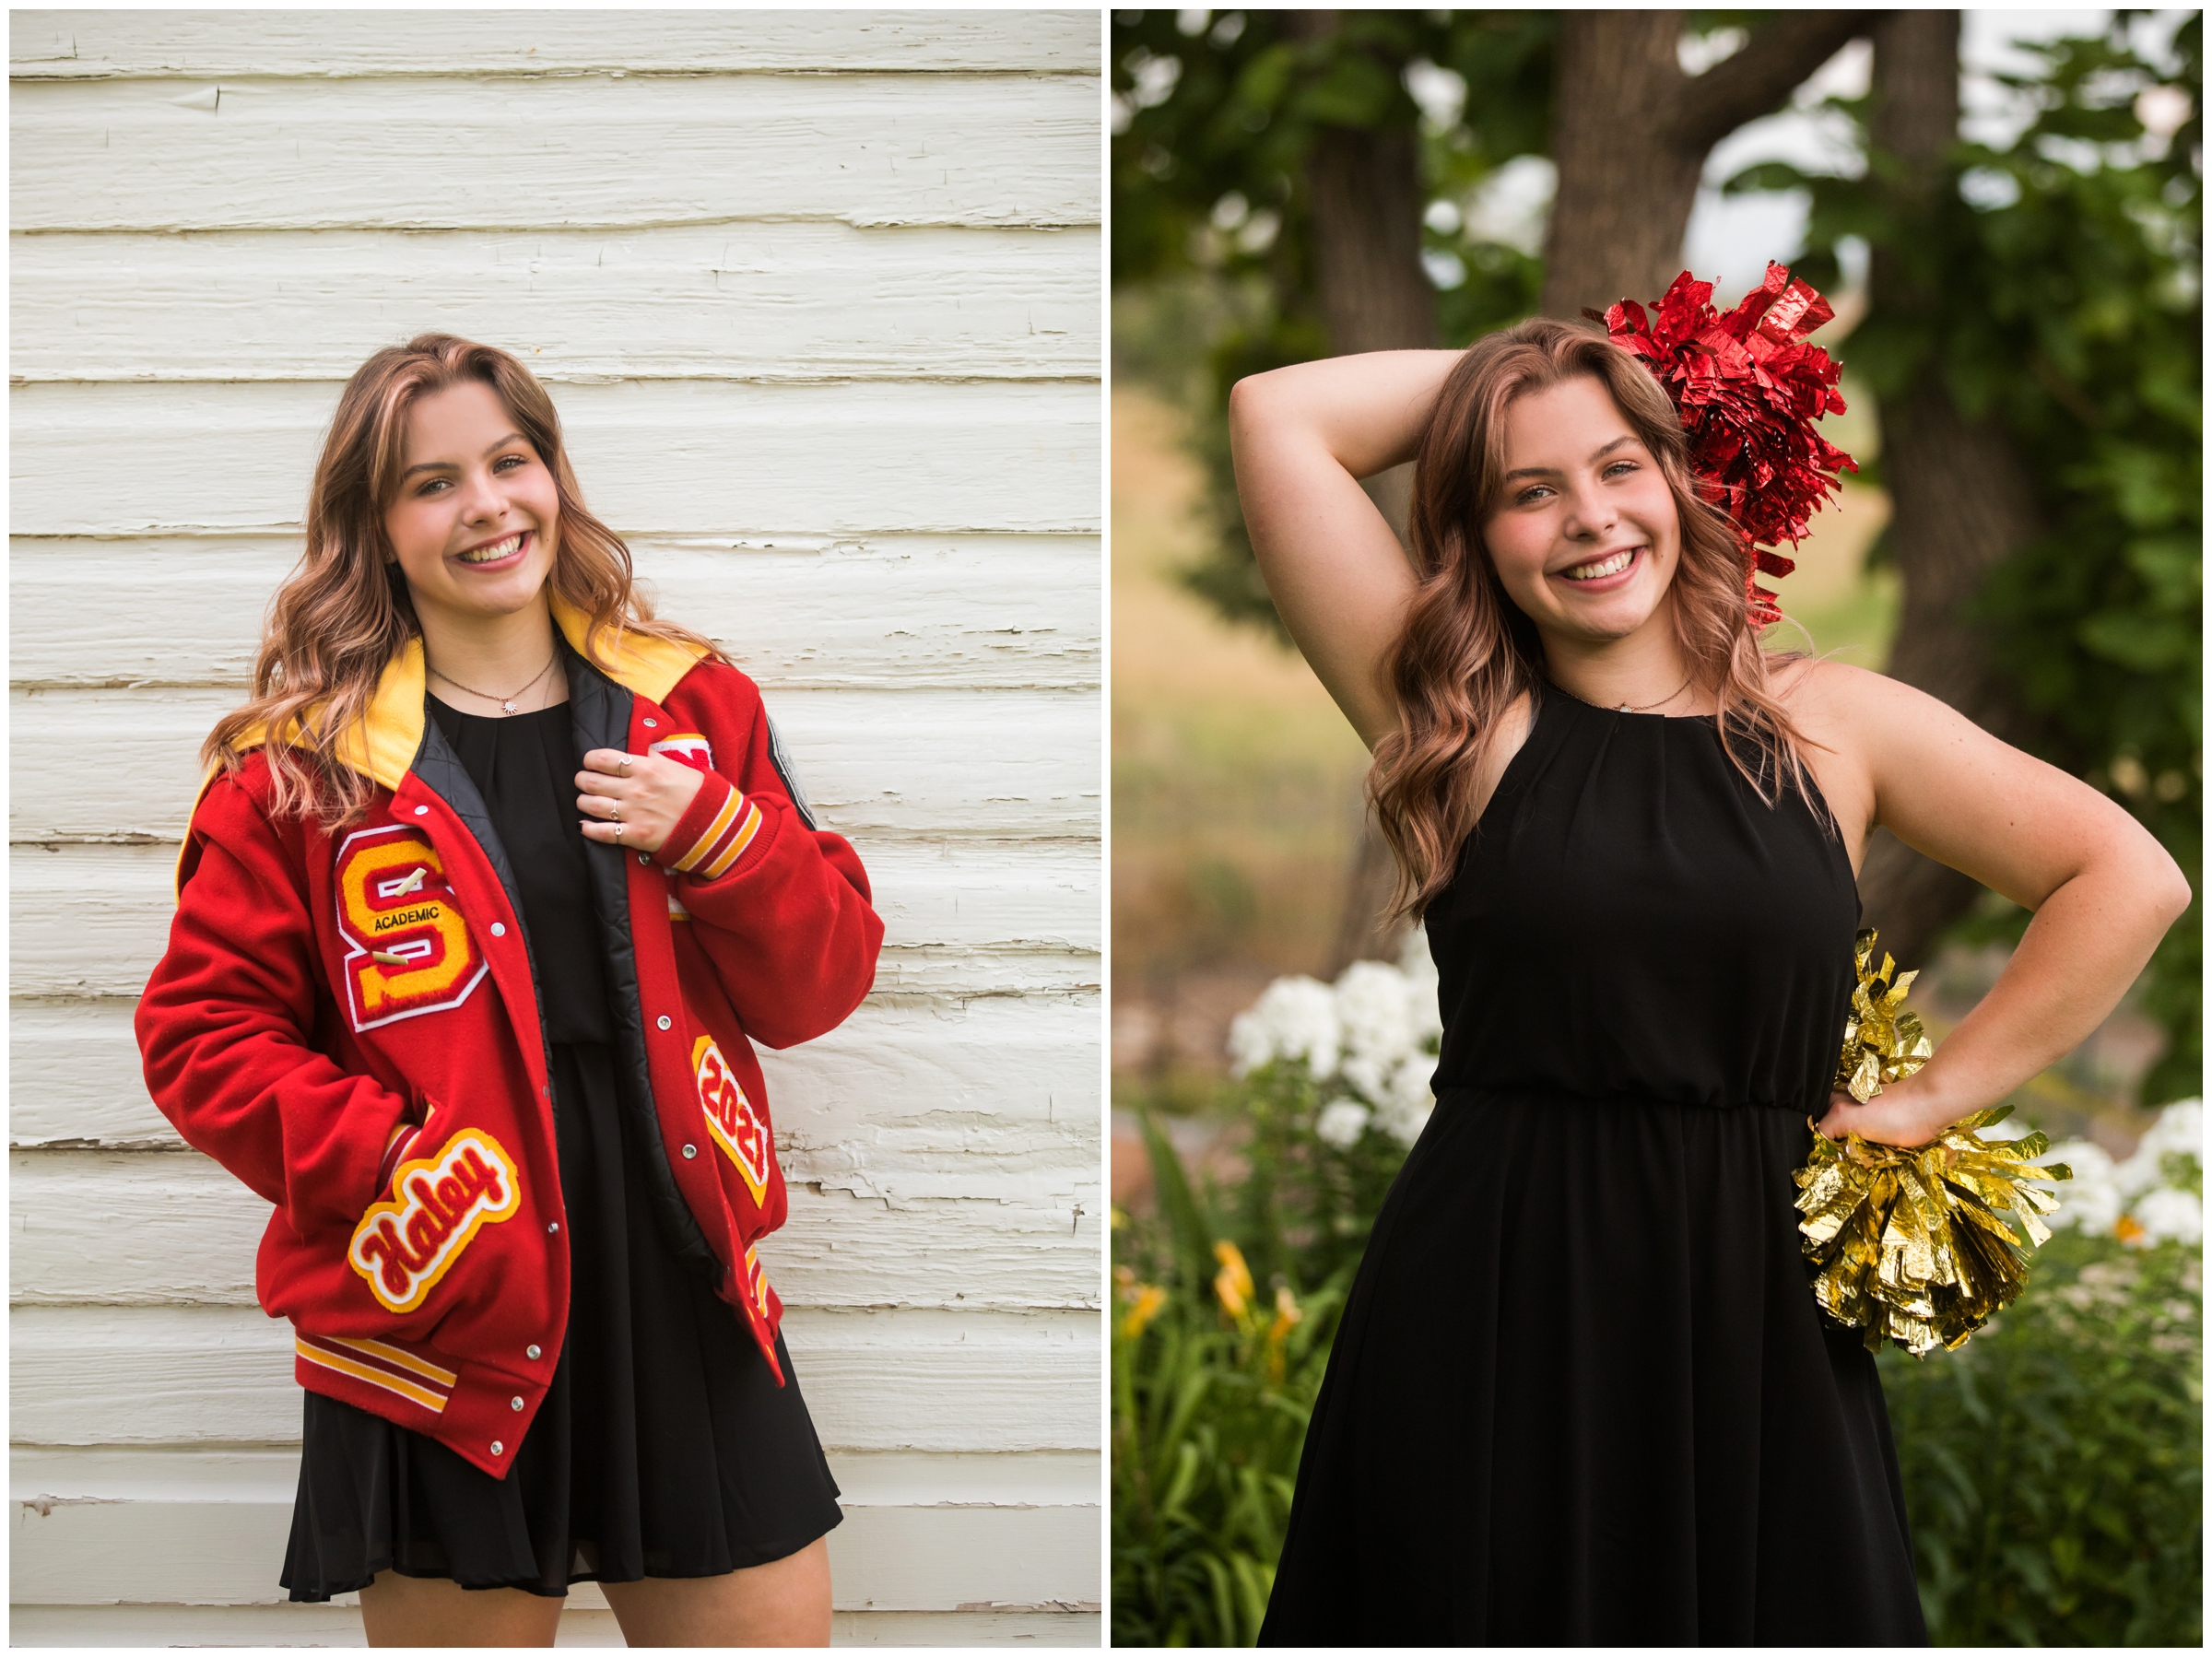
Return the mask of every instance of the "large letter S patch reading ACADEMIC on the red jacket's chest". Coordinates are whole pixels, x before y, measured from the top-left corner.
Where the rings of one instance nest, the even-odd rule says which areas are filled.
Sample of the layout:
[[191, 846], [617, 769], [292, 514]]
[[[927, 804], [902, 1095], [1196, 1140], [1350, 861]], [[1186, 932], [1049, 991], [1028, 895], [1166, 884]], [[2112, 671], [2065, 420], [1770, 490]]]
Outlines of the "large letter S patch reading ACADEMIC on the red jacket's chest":
[[403, 823], [338, 845], [338, 936], [356, 1031], [460, 1007], [491, 969], [445, 887], [445, 865]]

